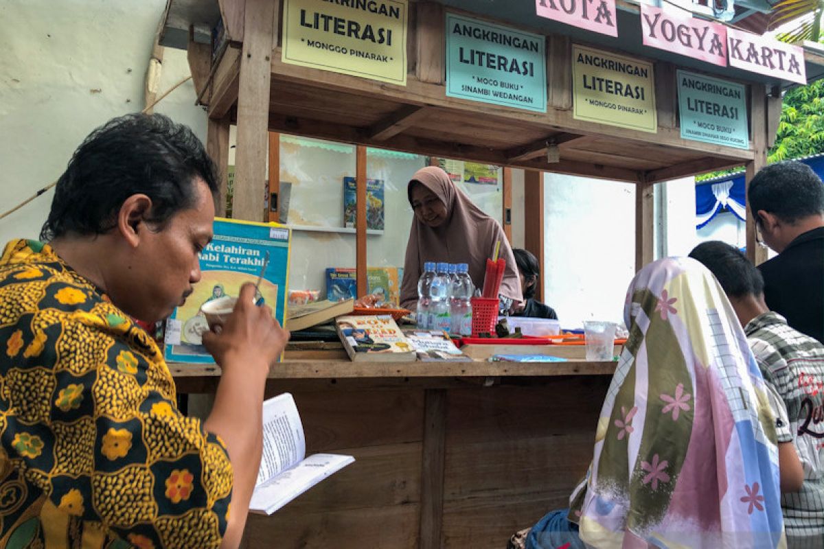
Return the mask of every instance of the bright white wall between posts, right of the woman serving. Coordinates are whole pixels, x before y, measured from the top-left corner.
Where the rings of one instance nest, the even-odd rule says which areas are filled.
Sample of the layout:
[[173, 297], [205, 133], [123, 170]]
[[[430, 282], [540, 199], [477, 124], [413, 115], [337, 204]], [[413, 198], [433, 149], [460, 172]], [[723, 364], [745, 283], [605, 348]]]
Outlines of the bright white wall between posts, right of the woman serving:
[[563, 328], [620, 322], [634, 276], [635, 185], [545, 174], [544, 295]]

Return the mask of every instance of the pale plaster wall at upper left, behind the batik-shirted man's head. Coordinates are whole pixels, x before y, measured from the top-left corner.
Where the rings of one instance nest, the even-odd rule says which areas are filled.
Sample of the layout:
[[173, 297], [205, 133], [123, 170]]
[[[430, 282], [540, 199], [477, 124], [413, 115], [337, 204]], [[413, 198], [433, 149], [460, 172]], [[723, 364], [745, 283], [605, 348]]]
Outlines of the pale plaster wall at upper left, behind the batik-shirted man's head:
[[[143, 109], [143, 86], [165, 0], [0, 2], [0, 211], [56, 180], [75, 148], [108, 119]], [[186, 54], [166, 49], [162, 91], [189, 75]], [[191, 82], [157, 112], [205, 137]], [[0, 245], [35, 238], [51, 205], [45, 193], [0, 220]]]

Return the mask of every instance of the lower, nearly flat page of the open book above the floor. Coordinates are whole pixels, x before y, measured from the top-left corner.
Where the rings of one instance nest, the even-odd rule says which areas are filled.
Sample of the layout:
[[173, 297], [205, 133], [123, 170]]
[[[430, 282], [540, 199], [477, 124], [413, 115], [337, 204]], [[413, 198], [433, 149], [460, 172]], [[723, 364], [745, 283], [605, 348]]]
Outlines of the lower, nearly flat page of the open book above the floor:
[[255, 487], [249, 508], [272, 514], [354, 460], [352, 456], [346, 455], [314, 454], [296, 467]]

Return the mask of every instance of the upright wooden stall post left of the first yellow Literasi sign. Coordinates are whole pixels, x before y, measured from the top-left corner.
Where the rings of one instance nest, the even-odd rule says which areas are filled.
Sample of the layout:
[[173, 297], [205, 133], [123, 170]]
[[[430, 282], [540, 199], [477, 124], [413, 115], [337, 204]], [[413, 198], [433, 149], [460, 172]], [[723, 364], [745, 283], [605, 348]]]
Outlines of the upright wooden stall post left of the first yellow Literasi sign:
[[272, 0], [247, 0], [240, 88], [232, 216], [263, 221], [266, 153], [269, 149], [269, 83], [275, 9]]

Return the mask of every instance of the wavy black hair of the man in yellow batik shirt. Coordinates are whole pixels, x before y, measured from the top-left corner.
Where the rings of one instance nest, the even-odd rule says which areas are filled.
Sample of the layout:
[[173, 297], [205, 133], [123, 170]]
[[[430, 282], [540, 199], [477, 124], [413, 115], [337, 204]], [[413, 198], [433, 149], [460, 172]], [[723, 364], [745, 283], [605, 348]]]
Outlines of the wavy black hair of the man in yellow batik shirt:
[[217, 170], [190, 128], [162, 114], [111, 119], [74, 151], [40, 240], [108, 232], [126, 199], [139, 193], [152, 199], [145, 221], [162, 229], [171, 216], [194, 206], [195, 178], [204, 180], [213, 198], [218, 195]]

